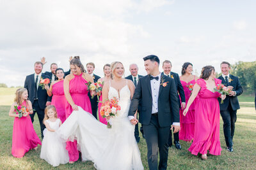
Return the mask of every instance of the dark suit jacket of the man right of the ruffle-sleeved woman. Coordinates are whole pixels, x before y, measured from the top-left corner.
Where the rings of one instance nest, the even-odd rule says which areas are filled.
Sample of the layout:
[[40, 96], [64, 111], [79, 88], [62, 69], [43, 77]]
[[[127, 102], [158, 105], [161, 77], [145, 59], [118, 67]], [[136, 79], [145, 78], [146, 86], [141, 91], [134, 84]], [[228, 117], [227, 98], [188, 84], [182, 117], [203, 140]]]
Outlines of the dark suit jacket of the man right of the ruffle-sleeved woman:
[[224, 103], [221, 104], [221, 99], [220, 97], [218, 97], [218, 101], [220, 103], [220, 111], [225, 111], [228, 110], [228, 104], [230, 103], [232, 106], [232, 110], [239, 110], [240, 106], [239, 106], [239, 102], [237, 99], [237, 96], [241, 95], [243, 93], [243, 88], [240, 84], [240, 81], [238, 79], [237, 76], [233, 76], [231, 74], [229, 74], [229, 77], [232, 81], [230, 82], [226, 82], [225, 79], [223, 78], [223, 76], [218, 77], [218, 79], [221, 80], [221, 83], [223, 85], [225, 85], [226, 87], [228, 85], [231, 85], [232, 87], [234, 87], [233, 91], [236, 91], [236, 96], [226, 96], [226, 99], [223, 101]]

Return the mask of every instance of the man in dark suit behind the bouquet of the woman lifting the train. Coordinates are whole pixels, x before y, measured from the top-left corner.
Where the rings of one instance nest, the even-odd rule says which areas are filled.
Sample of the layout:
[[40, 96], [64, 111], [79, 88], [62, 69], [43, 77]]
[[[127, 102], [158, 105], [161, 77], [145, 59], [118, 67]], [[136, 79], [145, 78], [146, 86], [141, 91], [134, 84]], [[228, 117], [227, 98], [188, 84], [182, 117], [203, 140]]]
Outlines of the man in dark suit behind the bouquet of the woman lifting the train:
[[[93, 62], [88, 62], [86, 64], [87, 73], [92, 76], [94, 83], [96, 83], [99, 80], [100, 76], [93, 74], [94, 69], [95, 69], [95, 64]], [[92, 115], [97, 119], [98, 98], [97, 96], [94, 96], [92, 99], [90, 92], [88, 92], [88, 96], [90, 98], [91, 105], [92, 105]]]

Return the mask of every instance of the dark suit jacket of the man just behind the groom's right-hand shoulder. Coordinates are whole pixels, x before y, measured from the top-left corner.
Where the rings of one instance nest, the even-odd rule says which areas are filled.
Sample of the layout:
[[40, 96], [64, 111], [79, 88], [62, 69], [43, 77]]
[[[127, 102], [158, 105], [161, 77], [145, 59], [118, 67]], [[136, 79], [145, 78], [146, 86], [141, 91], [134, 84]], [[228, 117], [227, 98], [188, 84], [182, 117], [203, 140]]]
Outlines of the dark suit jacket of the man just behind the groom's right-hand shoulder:
[[[164, 73], [162, 73], [162, 74], [164, 74]], [[173, 76], [173, 80], [175, 82], [175, 86], [176, 86], [176, 90], [177, 90], [177, 97], [178, 97], [179, 108], [181, 108], [180, 107], [180, 99], [181, 99], [181, 102], [186, 103], [186, 97], [185, 97], [184, 89], [182, 87], [182, 84], [180, 83], [179, 74], [174, 73], [172, 71], [170, 72], [170, 74], [171, 74], [171, 76]]]

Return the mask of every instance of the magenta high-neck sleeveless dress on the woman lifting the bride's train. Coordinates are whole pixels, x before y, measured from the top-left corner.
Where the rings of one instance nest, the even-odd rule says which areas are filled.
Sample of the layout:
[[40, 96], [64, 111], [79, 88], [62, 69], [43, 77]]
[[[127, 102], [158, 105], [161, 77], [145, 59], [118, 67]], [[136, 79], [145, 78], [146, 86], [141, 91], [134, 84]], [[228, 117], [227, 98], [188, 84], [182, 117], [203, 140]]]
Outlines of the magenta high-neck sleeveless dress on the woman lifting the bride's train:
[[[80, 75], [74, 74], [74, 78], [69, 81], [69, 92], [77, 106], [83, 108], [84, 111], [92, 113], [92, 106], [90, 99], [88, 97], [88, 88], [86, 83], [88, 83], [83, 78], [83, 73]], [[66, 103], [66, 118], [72, 113], [72, 106]], [[71, 142], [67, 141], [66, 149], [68, 150], [68, 156], [70, 162], [76, 162], [79, 159], [79, 152], [77, 150], [77, 141]]]

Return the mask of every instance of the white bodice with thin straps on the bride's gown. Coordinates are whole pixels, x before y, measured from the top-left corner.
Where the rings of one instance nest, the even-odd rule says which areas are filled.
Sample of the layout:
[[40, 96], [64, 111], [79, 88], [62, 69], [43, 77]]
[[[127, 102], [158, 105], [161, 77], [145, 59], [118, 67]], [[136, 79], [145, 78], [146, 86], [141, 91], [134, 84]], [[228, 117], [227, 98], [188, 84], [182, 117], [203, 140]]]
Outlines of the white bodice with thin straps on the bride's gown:
[[109, 81], [108, 99], [113, 99], [113, 97], [119, 99], [118, 105], [121, 106], [121, 110], [118, 111], [117, 117], [127, 117], [131, 104], [131, 92], [127, 85], [127, 80], [126, 85], [122, 87], [119, 93], [118, 90], [116, 90], [114, 87], [111, 87], [111, 81]]

